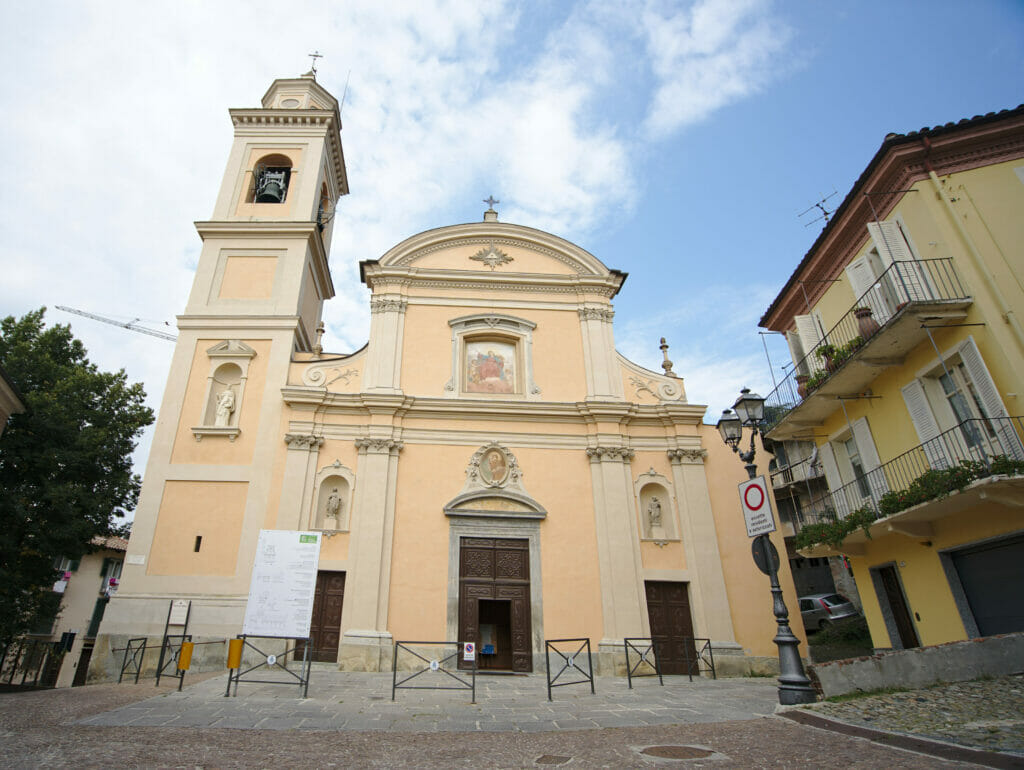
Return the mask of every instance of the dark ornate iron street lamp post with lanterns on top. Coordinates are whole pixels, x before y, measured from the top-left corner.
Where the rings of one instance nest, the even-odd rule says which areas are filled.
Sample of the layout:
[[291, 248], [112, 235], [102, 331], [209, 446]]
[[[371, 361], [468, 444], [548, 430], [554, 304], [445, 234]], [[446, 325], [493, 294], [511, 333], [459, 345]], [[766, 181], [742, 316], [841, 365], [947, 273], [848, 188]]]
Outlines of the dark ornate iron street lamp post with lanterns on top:
[[[718, 421], [722, 439], [739, 455], [752, 479], [757, 477], [758, 472], [754, 463], [754, 438], [762, 432], [764, 414], [765, 399], [752, 393], [750, 388], [743, 388], [732, 410], [725, 410], [722, 419]], [[751, 447], [741, 452], [739, 442], [742, 440], [744, 427], [751, 429]], [[817, 699], [817, 693], [804, 673], [804, 664], [800, 659], [800, 640], [790, 628], [790, 610], [786, 609], [782, 589], [778, 585], [778, 552], [767, 534], [759, 534], [754, 539], [753, 551], [758, 567], [771, 579], [772, 610], [778, 625], [772, 640], [778, 647], [778, 702], [782, 705], [813, 703]]]

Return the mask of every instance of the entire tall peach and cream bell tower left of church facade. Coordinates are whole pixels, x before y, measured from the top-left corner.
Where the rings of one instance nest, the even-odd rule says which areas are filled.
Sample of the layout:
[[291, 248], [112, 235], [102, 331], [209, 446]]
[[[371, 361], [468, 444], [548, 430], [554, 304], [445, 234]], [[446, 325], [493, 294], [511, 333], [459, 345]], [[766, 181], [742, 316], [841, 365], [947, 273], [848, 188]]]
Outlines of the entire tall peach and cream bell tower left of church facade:
[[196, 222], [196, 277], [97, 636], [94, 666], [108, 671], [125, 640], [163, 634], [170, 601], [190, 603], [182, 633], [241, 630], [259, 530], [281, 498], [281, 392], [334, 296], [328, 253], [348, 193], [337, 100], [307, 73], [229, 113], [227, 167], [212, 217]]

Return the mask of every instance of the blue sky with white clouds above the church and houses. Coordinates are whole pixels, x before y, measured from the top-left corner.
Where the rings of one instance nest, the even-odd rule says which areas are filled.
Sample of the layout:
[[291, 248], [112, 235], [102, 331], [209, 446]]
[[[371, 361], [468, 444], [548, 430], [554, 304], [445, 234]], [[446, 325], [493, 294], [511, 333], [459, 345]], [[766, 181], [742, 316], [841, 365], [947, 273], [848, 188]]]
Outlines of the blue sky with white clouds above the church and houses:
[[757, 322], [823, 226], [801, 213], [838, 206], [886, 134], [1024, 101], [1020, 0], [85, 0], [0, 25], [0, 314], [45, 305], [155, 411], [173, 344], [54, 306], [174, 333], [227, 110], [313, 51], [351, 190], [327, 350], [367, 341], [359, 260], [494, 196], [629, 273], [616, 346], [660, 371], [666, 337], [709, 423], [790, 365]]

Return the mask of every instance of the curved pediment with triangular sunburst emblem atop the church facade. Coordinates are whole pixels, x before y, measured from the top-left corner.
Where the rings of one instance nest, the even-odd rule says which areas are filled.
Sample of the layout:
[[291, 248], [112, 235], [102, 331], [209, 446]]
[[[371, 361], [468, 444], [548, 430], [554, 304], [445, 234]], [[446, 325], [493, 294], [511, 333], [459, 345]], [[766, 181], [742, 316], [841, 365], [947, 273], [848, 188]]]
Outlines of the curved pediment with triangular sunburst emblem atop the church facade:
[[618, 274], [590, 252], [550, 232], [489, 221], [420, 232], [389, 250], [376, 264], [417, 270]]

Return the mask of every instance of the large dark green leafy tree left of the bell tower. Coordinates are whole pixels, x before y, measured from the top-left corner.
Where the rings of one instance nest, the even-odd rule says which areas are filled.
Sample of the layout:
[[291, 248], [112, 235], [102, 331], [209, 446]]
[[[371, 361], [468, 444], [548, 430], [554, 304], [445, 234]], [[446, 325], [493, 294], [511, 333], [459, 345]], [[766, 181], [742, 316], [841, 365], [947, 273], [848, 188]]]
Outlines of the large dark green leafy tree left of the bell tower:
[[26, 405], [0, 436], [0, 644], [52, 612], [54, 558], [80, 558], [135, 507], [131, 454], [153, 422], [142, 386], [100, 372], [44, 312], [0, 322], [0, 360]]

